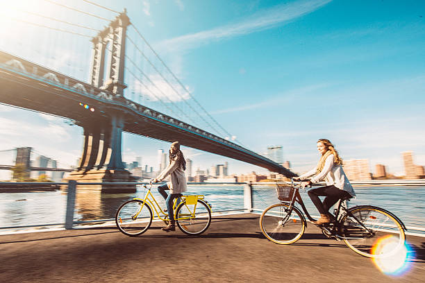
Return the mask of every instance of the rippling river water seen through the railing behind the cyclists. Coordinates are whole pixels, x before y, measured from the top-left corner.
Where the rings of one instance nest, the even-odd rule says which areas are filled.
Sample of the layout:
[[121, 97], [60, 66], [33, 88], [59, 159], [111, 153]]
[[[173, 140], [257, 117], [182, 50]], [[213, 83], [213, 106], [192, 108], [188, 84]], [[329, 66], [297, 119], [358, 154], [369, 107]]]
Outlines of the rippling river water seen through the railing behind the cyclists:
[[[357, 197], [353, 205], [375, 205], [396, 214], [406, 226], [425, 228], [425, 186], [354, 187]], [[213, 212], [244, 207], [242, 185], [190, 185], [188, 194], [203, 194], [213, 205]], [[74, 220], [85, 221], [114, 218], [119, 205], [135, 196], [143, 197], [145, 189], [135, 194], [99, 194], [94, 191], [77, 191]], [[165, 207], [156, 189], [154, 196]], [[308, 212], [317, 215], [306, 192], [301, 192]], [[0, 228], [18, 225], [64, 223], [67, 203], [65, 191], [23, 192], [0, 194]], [[274, 187], [253, 186], [253, 208], [260, 212], [278, 203]]]

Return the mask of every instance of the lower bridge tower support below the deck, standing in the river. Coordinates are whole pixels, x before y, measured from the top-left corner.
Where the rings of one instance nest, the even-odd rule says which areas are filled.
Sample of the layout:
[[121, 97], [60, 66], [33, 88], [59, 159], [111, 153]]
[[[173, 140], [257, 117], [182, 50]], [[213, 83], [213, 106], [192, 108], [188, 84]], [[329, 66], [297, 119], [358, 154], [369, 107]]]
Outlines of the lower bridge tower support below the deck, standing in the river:
[[[76, 171], [64, 180], [78, 182], [134, 182], [136, 178], [122, 162], [122, 128], [124, 119], [112, 115], [105, 121], [82, 123], [84, 146]], [[77, 189], [90, 189], [105, 193], [135, 192], [135, 185], [78, 185]], [[78, 199], [78, 197], [77, 197]]]

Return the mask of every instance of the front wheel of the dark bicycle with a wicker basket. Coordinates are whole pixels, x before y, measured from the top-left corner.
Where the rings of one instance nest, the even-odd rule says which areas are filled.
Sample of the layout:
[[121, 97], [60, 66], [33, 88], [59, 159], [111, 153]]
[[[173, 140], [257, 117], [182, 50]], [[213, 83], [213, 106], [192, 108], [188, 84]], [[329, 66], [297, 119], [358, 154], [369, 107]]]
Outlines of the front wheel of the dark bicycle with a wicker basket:
[[260, 216], [261, 232], [267, 239], [281, 245], [294, 243], [306, 230], [306, 218], [297, 209], [289, 210], [288, 203], [269, 206]]

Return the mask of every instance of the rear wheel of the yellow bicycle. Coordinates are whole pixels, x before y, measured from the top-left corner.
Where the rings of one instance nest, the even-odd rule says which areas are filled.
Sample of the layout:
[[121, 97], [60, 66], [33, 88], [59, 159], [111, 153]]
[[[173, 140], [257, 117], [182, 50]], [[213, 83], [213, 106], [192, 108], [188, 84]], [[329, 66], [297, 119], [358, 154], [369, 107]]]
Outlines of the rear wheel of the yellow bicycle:
[[203, 200], [198, 200], [196, 205], [183, 202], [176, 209], [176, 223], [185, 234], [202, 234], [211, 223], [210, 207]]

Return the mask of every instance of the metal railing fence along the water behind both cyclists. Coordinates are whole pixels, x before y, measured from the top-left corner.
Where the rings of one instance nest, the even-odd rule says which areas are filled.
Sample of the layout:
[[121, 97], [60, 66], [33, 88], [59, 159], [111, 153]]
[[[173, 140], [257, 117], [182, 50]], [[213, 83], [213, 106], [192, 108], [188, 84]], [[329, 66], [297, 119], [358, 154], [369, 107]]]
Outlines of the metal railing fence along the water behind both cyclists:
[[[15, 183], [28, 185], [26, 183]], [[29, 183], [31, 184], [31, 183]], [[0, 194], [0, 230], [74, 228], [87, 223], [108, 223], [113, 221], [117, 207], [135, 196], [142, 197], [144, 190], [135, 194], [99, 194], [87, 188], [95, 183], [46, 183], [67, 187], [65, 190], [28, 192], [17, 189], [12, 194]], [[134, 184], [134, 183], [132, 183]], [[146, 182], [136, 183], [138, 185]], [[111, 186], [129, 183], [110, 183]], [[140, 186], [141, 187], [141, 186]], [[351, 200], [353, 205], [378, 205], [394, 212], [408, 226], [408, 233], [425, 234], [424, 207], [415, 205], [414, 200], [425, 197], [425, 186], [355, 187], [358, 197]], [[158, 200], [163, 201], [156, 189], [152, 189]], [[188, 194], [203, 194], [217, 212], [253, 212], [278, 203], [274, 183], [190, 183]], [[301, 191], [310, 212], [315, 207], [305, 192]], [[165, 202], [162, 203], [165, 207]], [[406, 209], [408, 207], [409, 209]], [[314, 214], [314, 213], [313, 213]], [[113, 223], [113, 222], [111, 222]]]

